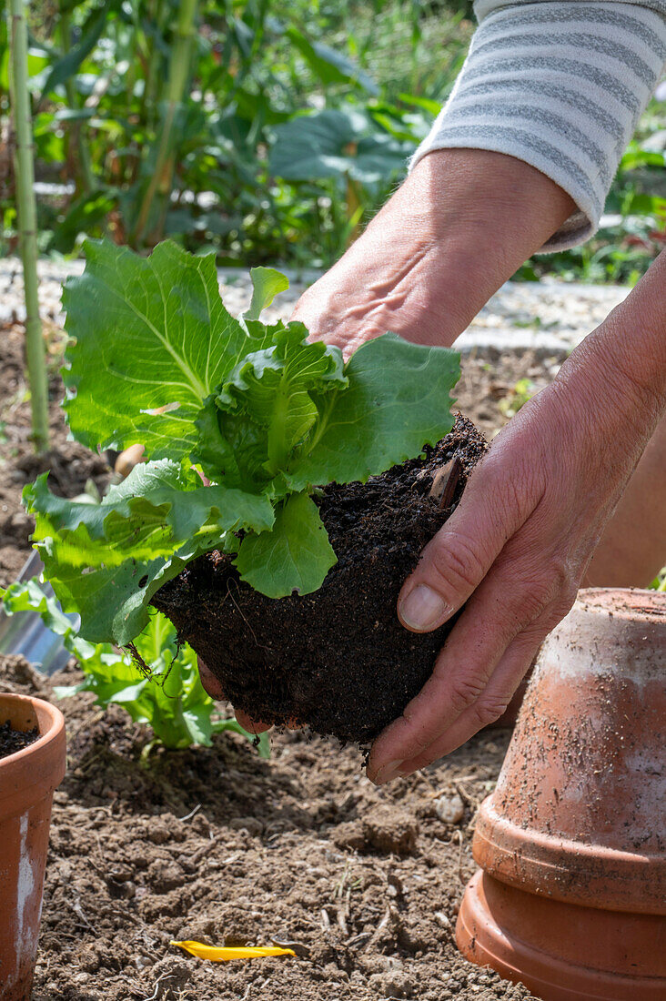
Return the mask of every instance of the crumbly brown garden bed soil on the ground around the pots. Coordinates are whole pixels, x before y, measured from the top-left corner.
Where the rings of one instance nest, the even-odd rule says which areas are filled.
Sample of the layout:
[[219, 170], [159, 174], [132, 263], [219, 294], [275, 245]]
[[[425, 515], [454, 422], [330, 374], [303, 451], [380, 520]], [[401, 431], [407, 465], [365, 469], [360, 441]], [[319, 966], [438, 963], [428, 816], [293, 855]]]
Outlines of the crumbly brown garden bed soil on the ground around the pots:
[[[0, 330], [0, 585], [30, 554], [21, 489], [52, 464], [67, 495], [109, 470], [67, 441], [51, 353], [52, 453], [36, 464], [23, 330]], [[55, 346], [53, 346], [55, 345]], [[459, 406], [488, 437], [518, 378], [553, 369], [534, 355], [466, 359]], [[73, 667], [53, 681], [80, 679]], [[0, 658], [0, 691], [52, 700], [22, 658]], [[476, 809], [509, 733], [477, 735], [438, 767], [375, 788], [356, 748], [271, 736], [269, 761], [241, 737], [210, 749], [141, 752], [148, 732], [81, 694], [65, 715], [68, 773], [54, 797], [33, 1001], [518, 1001], [523, 987], [478, 969], [454, 943], [475, 866]], [[293, 941], [295, 959], [213, 965], [171, 939]]]

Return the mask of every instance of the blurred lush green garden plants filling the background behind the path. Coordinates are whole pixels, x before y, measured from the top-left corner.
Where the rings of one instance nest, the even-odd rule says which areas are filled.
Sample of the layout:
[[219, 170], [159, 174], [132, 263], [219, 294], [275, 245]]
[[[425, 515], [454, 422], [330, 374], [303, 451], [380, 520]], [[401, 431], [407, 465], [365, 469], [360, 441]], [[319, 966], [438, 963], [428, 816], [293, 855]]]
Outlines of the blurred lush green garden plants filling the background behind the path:
[[[17, 226], [0, 0], [0, 254]], [[43, 253], [171, 236], [220, 264], [326, 267], [388, 197], [474, 30], [462, 0], [44, 0], [30, 5]], [[663, 88], [662, 88], [663, 89]], [[597, 237], [518, 274], [635, 281], [666, 241], [666, 93]]]

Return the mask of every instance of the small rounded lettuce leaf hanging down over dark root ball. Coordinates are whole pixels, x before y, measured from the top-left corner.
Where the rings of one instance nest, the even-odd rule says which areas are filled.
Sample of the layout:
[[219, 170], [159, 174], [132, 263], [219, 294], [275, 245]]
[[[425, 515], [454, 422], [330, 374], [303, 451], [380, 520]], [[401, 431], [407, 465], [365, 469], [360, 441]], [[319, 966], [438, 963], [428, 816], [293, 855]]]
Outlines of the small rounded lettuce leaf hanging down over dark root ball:
[[316, 591], [336, 563], [318, 508], [306, 493], [287, 498], [273, 532], [246, 536], [235, 560], [242, 580], [268, 598]]

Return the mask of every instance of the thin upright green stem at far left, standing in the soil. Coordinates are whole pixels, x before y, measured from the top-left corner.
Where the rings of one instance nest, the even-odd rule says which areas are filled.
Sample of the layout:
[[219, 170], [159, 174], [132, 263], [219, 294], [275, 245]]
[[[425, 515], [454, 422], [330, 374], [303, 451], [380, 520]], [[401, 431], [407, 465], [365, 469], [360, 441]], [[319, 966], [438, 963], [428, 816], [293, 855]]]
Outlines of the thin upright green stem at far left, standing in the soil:
[[16, 129], [14, 174], [25, 287], [25, 335], [32, 408], [32, 434], [37, 451], [48, 445], [48, 383], [37, 278], [37, 211], [30, 97], [28, 94], [28, 29], [23, 0], [10, 0], [10, 90]]

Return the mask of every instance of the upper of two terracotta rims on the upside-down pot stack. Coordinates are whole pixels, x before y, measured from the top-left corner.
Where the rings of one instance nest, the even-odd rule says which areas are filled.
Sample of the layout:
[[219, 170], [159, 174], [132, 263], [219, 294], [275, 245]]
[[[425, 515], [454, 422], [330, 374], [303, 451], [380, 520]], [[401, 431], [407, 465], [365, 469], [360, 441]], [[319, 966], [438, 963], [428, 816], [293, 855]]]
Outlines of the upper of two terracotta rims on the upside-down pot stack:
[[518, 827], [498, 813], [492, 794], [479, 810], [472, 851], [486, 872], [518, 890], [603, 911], [666, 915], [666, 856]]

